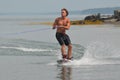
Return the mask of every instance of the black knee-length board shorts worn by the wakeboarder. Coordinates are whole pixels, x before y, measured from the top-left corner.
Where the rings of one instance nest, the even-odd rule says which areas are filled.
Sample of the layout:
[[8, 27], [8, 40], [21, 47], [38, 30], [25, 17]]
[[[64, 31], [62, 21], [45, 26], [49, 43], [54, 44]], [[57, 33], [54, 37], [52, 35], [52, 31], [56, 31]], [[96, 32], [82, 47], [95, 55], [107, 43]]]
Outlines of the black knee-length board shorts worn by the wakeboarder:
[[58, 40], [60, 45], [65, 44], [68, 46], [69, 44], [71, 44], [70, 38], [67, 34], [57, 32], [56, 39]]

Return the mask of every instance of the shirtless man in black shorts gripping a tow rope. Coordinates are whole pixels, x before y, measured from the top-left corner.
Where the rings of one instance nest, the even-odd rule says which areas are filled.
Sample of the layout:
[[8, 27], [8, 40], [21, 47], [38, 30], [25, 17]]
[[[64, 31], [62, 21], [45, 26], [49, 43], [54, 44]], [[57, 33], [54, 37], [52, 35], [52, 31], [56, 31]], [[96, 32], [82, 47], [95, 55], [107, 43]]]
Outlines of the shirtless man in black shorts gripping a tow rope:
[[[55, 19], [53, 24], [53, 29], [56, 29], [56, 39], [58, 40], [59, 44], [61, 45], [61, 53], [63, 59], [71, 60], [72, 58], [72, 44], [70, 41], [69, 36], [66, 34], [66, 30], [70, 28], [70, 19], [67, 18], [68, 16], [67, 9], [61, 9], [61, 17]], [[68, 47], [68, 52], [66, 53], [66, 46]]]

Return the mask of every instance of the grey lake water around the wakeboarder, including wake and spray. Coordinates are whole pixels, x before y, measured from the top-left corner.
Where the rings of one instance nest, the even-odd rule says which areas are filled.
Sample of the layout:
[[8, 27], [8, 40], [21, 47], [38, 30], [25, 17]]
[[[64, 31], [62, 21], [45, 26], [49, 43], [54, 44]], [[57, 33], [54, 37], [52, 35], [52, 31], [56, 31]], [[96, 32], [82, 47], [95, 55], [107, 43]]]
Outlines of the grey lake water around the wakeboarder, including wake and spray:
[[[120, 25], [71, 26], [74, 61], [61, 58], [55, 30], [57, 15], [0, 16], [0, 80], [119, 80]], [[70, 16], [81, 19], [81, 16]]]

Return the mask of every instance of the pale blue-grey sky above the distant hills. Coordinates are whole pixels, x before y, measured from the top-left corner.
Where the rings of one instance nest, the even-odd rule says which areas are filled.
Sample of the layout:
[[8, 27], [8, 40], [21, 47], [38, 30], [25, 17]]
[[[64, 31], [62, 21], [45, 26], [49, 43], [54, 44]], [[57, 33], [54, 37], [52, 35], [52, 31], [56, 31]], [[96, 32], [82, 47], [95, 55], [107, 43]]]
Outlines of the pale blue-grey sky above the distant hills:
[[44, 13], [120, 7], [120, 0], [0, 0], [0, 13]]

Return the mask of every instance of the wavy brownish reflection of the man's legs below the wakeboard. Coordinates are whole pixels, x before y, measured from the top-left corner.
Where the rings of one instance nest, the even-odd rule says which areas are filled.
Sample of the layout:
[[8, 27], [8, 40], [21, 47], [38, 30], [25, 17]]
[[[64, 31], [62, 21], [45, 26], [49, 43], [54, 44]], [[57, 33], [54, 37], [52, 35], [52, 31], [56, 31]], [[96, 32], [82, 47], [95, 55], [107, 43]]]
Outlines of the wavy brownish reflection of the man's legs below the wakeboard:
[[60, 80], [72, 80], [72, 68], [70, 66], [58, 66], [58, 68], [57, 78]]

